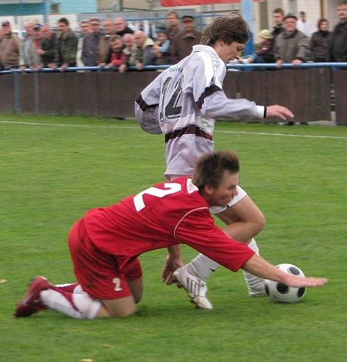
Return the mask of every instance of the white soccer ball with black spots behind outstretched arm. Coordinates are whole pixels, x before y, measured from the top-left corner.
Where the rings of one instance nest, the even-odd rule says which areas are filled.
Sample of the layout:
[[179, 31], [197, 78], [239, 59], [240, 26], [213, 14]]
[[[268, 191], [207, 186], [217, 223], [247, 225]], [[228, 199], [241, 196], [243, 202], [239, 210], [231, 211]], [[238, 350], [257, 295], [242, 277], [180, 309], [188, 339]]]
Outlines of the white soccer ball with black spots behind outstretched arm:
[[[285, 273], [292, 275], [301, 275], [304, 276], [302, 270], [296, 265], [292, 264], [279, 264], [276, 268], [281, 269]], [[265, 291], [269, 299], [272, 302], [280, 303], [297, 303], [304, 297], [306, 292], [306, 287], [288, 287], [283, 283], [274, 282], [273, 280], [265, 280]]]

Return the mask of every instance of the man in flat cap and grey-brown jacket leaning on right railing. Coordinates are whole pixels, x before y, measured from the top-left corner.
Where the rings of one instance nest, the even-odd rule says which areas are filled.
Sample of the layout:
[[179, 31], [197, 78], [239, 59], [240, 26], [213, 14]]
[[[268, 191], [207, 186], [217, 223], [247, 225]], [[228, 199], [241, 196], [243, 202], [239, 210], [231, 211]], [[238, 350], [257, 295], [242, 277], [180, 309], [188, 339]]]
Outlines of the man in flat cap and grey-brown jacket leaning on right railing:
[[309, 56], [309, 38], [297, 30], [297, 16], [289, 13], [284, 17], [284, 33], [274, 40], [274, 59], [277, 67], [283, 62], [301, 65]]

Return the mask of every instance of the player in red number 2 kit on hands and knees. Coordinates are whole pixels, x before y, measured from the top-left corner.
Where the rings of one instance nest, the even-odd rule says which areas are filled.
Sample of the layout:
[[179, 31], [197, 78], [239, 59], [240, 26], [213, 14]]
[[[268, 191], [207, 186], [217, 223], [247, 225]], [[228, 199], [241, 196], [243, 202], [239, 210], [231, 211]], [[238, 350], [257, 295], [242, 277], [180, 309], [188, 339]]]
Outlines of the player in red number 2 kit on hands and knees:
[[282, 272], [215, 226], [209, 207], [225, 205], [235, 197], [238, 172], [235, 153], [209, 153], [198, 160], [193, 178], [178, 177], [119, 204], [88, 211], [68, 238], [78, 284], [56, 286], [38, 276], [14, 315], [28, 317], [49, 307], [74, 318], [127, 317], [142, 298], [138, 256], [169, 248], [169, 259], [178, 258], [170, 247], [180, 243], [233, 271], [242, 268], [294, 287], [324, 285], [325, 278]]

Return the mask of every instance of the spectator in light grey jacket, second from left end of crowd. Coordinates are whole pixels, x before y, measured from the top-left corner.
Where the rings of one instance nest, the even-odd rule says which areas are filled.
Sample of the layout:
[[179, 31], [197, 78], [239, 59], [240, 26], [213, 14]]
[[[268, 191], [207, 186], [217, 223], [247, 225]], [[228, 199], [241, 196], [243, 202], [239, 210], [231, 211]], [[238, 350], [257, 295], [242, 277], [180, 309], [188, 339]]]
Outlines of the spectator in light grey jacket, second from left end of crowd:
[[[24, 36], [20, 49], [21, 70], [24, 70], [25, 68], [34, 68], [41, 61], [34, 46], [35, 31], [33, 30], [33, 23], [24, 24], [24, 28], [26, 30], [26, 35]], [[40, 31], [39, 24], [36, 25], [36, 29], [38, 29], [38, 32]]]

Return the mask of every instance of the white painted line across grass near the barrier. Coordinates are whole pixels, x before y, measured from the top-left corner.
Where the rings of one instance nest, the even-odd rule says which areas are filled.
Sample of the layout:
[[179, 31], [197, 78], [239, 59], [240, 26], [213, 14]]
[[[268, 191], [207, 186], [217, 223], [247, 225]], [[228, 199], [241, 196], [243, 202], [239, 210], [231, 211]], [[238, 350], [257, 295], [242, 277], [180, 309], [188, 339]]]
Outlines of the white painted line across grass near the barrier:
[[[1, 124], [28, 124], [35, 126], [61, 126], [61, 127], [85, 127], [85, 128], [130, 128], [141, 129], [134, 126], [92, 126], [89, 124], [41, 124], [38, 122], [19, 122], [19, 121], [0, 121]], [[334, 138], [334, 139], [347, 139], [347, 136], [314, 136], [314, 135], [300, 135], [291, 133], [266, 133], [266, 132], [247, 132], [247, 131], [218, 131], [215, 133], [233, 133], [233, 134], [254, 134], [258, 136], [284, 136], [284, 137], [303, 137], [303, 138]]]

